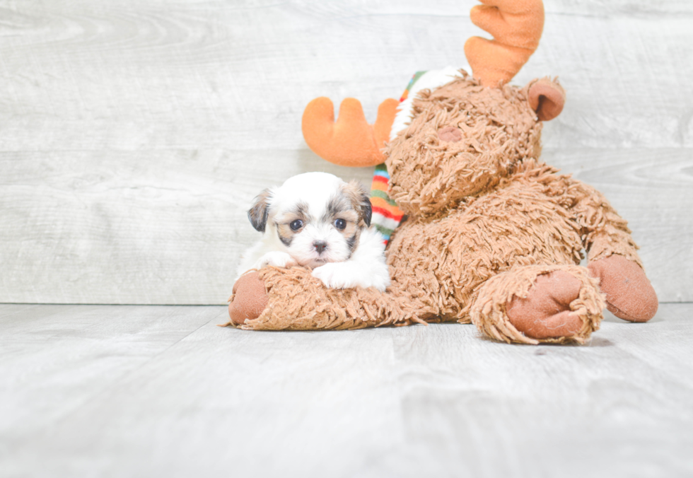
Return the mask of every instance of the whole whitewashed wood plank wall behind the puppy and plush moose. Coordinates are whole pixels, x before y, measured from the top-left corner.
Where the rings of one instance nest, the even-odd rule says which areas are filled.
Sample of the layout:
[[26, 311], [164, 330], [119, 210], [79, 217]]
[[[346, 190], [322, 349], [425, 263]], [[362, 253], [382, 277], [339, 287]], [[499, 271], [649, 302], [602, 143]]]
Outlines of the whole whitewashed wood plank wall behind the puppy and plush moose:
[[[309, 100], [373, 120], [465, 63], [472, 0], [0, 1], [0, 302], [223, 303]], [[605, 192], [662, 301], [693, 301], [693, 2], [547, 0], [516, 77], [559, 76], [544, 158]]]

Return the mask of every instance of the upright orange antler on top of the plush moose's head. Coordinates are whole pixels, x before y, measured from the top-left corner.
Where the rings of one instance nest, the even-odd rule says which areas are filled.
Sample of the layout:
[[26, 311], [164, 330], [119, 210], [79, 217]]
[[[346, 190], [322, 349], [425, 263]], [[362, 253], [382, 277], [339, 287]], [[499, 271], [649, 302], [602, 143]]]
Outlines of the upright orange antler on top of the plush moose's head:
[[542, 0], [479, 0], [472, 23], [494, 40], [471, 37], [465, 43], [474, 78], [484, 86], [500, 86], [513, 79], [537, 46], [544, 29]]

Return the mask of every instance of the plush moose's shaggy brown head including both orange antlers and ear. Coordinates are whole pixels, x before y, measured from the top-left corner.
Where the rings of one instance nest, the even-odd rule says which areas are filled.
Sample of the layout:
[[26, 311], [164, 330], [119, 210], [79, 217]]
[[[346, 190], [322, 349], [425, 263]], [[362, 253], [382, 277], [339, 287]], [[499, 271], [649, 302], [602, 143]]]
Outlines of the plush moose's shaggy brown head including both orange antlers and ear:
[[409, 214], [435, 214], [491, 187], [521, 158], [536, 157], [538, 121], [559, 115], [564, 91], [548, 78], [525, 88], [508, 82], [539, 45], [542, 0], [480, 1], [470, 18], [494, 38], [471, 37], [465, 43], [474, 78], [424, 92], [411, 124], [389, 146], [397, 100], [383, 101], [375, 123], [368, 124], [354, 98], [342, 102], [336, 122], [332, 101], [315, 98], [303, 112], [308, 146], [343, 166], [377, 165], [389, 156], [388, 167], [398, 168], [392, 193]]

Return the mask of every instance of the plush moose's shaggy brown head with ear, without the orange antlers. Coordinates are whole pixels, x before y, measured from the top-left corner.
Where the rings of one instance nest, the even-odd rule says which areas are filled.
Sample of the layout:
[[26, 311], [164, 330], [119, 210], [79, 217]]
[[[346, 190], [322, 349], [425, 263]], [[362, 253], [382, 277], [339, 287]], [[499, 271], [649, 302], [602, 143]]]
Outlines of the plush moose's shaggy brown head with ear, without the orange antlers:
[[385, 148], [390, 197], [406, 214], [432, 215], [496, 186], [518, 162], [538, 158], [543, 119], [563, 90], [543, 78], [525, 88], [462, 78], [424, 90], [413, 119]]

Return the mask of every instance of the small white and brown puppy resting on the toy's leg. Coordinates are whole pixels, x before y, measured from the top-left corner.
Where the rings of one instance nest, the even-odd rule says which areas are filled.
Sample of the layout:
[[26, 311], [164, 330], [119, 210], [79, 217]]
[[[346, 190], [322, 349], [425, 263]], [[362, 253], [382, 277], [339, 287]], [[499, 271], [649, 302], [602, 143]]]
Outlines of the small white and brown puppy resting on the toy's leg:
[[238, 276], [265, 266], [313, 269], [327, 287], [390, 285], [383, 236], [370, 228], [371, 200], [359, 182], [327, 173], [290, 177], [264, 190], [248, 211], [264, 233], [245, 253]]

